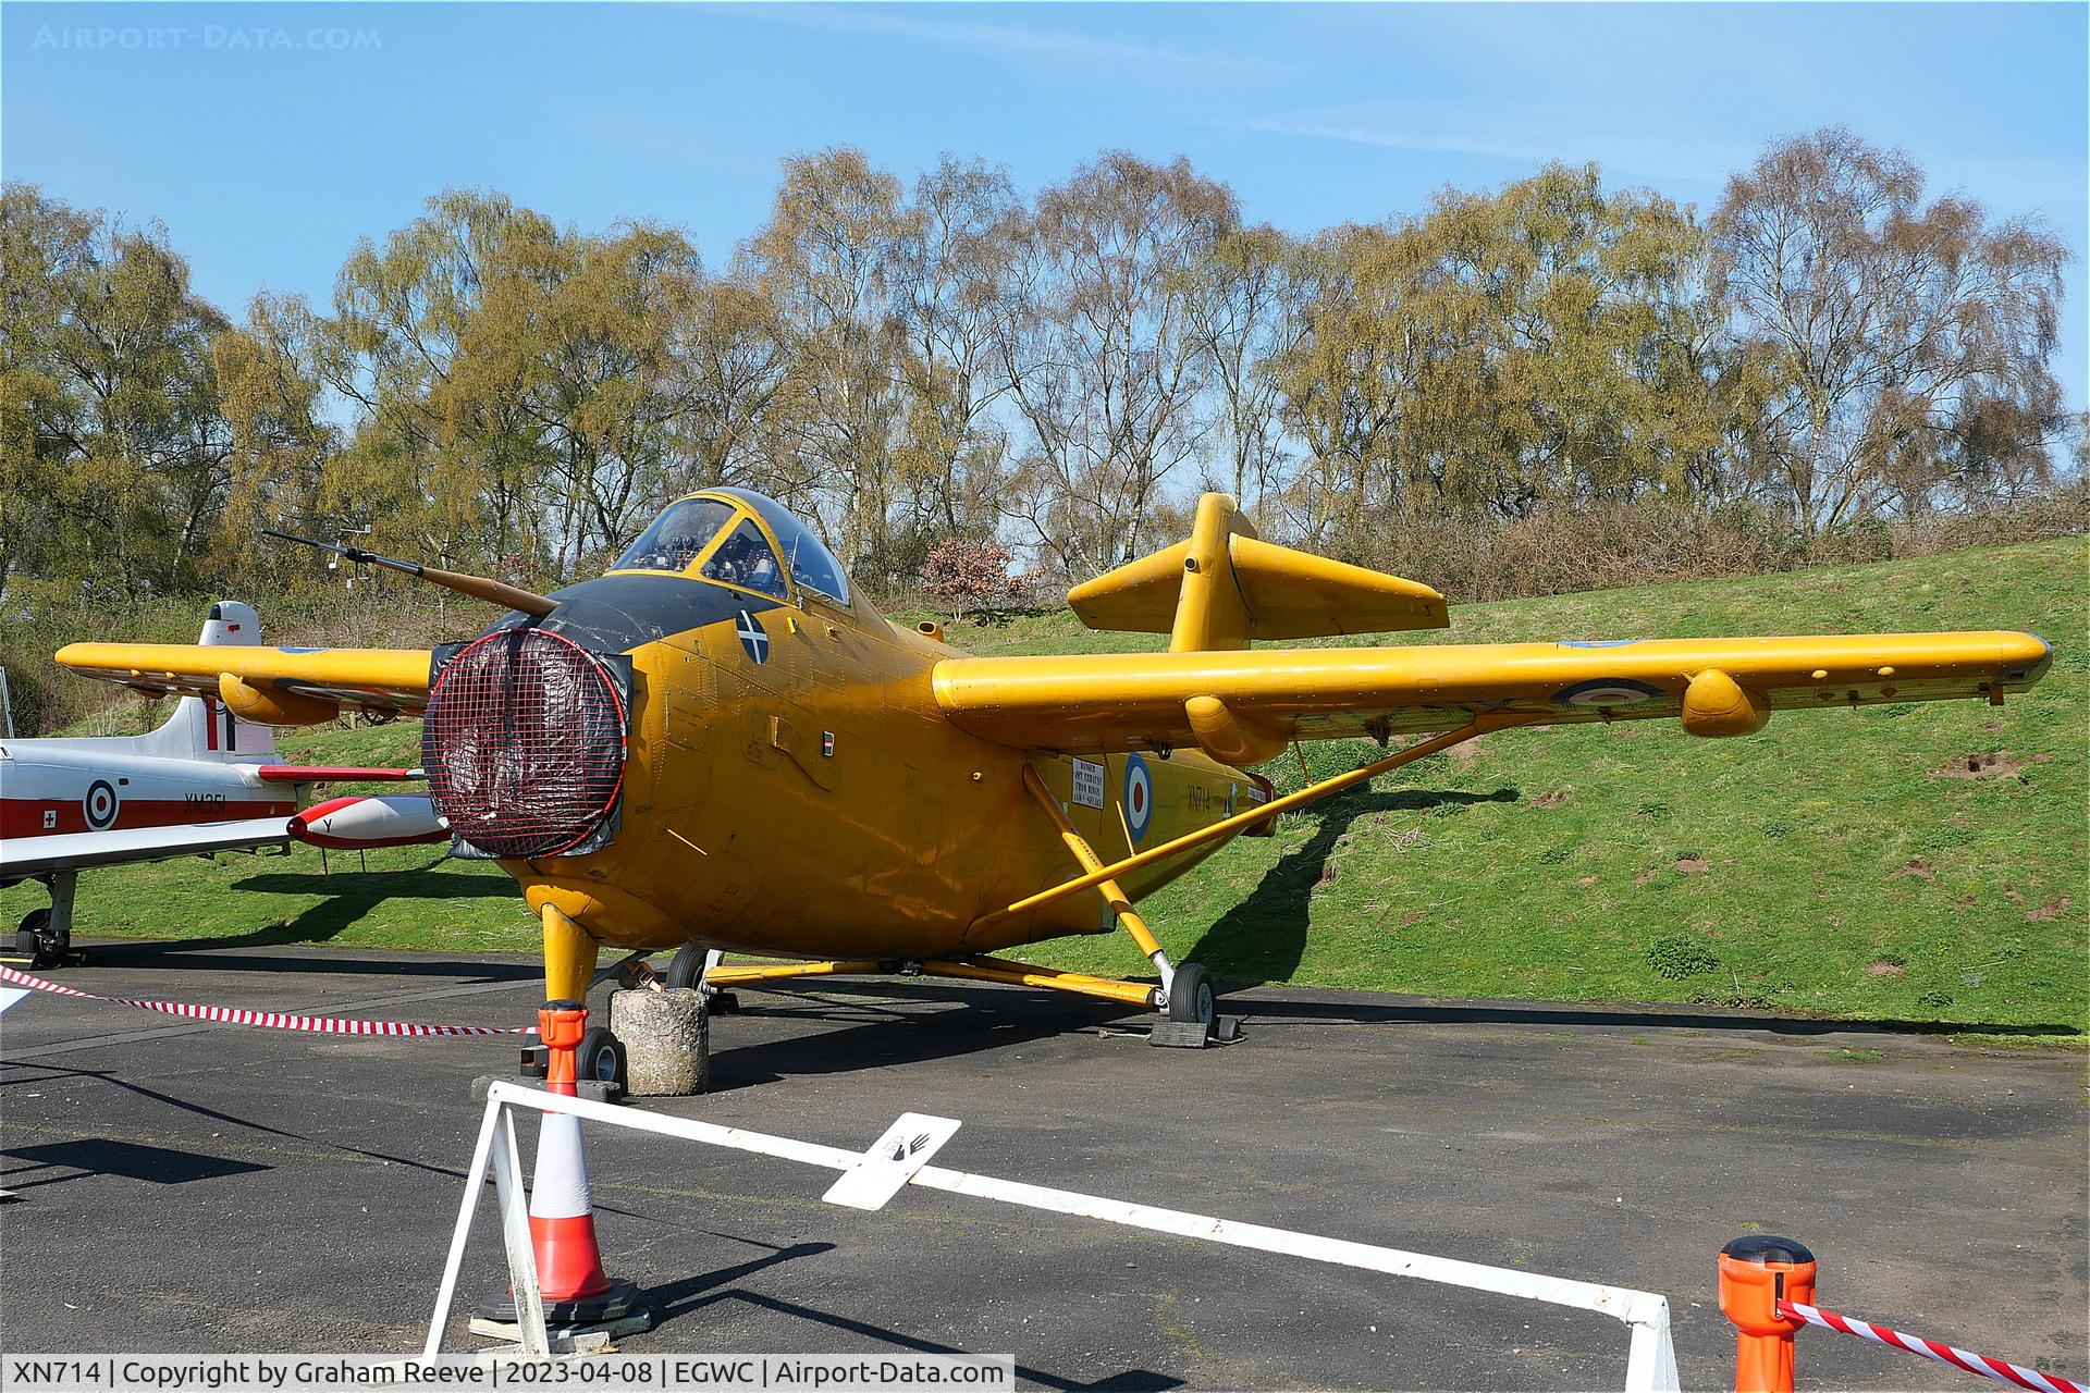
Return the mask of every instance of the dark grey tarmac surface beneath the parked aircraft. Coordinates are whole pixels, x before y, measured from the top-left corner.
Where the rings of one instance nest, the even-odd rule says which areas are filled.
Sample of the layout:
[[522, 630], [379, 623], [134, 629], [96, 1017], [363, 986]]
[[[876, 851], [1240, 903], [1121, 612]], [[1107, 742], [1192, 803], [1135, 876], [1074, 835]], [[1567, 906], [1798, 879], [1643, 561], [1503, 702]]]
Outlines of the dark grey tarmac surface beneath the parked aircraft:
[[[537, 969], [326, 948], [109, 944], [67, 986], [527, 1023]], [[1045, 992], [740, 992], [715, 1092], [665, 1111], [846, 1149], [963, 1119], [936, 1165], [1668, 1295], [1685, 1387], [1733, 1387], [1714, 1255], [1781, 1232], [1831, 1309], [2090, 1374], [2084, 1057], [1726, 1011], [1258, 988], [1248, 1038], [1156, 1050]], [[602, 990], [594, 998], [604, 1007]], [[410, 1351], [504, 1040], [199, 1025], [36, 994], [0, 1017], [8, 1351]], [[525, 1159], [533, 1149], [525, 1134]], [[1605, 1316], [991, 1201], [819, 1201], [834, 1174], [594, 1130], [631, 1351], [1014, 1351], [1049, 1389], [1618, 1387]], [[464, 1295], [493, 1295], [489, 1199]], [[451, 1349], [483, 1341], [460, 1312]], [[1802, 1387], [1975, 1380], [1825, 1330]]]

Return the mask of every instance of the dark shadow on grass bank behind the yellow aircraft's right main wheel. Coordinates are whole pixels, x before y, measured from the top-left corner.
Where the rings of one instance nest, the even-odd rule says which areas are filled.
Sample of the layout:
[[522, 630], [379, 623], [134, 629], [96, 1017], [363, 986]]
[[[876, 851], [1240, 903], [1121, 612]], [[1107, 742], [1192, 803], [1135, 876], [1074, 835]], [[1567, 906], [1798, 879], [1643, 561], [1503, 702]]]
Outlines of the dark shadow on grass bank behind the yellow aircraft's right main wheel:
[[1185, 961], [1204, 963], [1229, 984], [1290, 982], [1306, 957], [1313, 892], [1327, 875], [1336, 844], [1361, 817], [1375, 812], [1427, 812], [1440, 806], [1515, 802], [1517, 789], [1461, 794], [1457, 789], [1356, 789], [1338, 794], [1304, 812], [1315, 831], [1304, 846], [1283, 854], [1246, 900], [1204, 931]]

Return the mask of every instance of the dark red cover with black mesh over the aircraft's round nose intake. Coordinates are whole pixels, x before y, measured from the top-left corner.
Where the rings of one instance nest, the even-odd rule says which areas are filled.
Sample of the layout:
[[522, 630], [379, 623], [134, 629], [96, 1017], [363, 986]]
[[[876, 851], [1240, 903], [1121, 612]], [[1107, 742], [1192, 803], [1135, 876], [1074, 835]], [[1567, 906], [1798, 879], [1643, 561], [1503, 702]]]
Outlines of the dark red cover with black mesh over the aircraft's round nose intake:
[[458, 837], [506, 860], [556, 856], [617, 804], [625, 704], [573, 639], [489, 633], [435, 679], [420, 756], [435, 810]]

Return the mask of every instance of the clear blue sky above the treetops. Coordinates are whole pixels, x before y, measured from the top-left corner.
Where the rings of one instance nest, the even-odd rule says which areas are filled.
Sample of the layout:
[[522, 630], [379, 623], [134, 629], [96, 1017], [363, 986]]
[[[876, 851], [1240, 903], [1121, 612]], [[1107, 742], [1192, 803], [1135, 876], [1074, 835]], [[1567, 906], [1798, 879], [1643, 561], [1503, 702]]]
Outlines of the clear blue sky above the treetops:
[[1549, 159], [1710, 209], [1845, 123], [2075, 253], [2057, 363], [2090, 405], [2084, 4], [31, 4], [0, 13], [0, 165], [159, 219], [194, 284], [326, 299], [443, 186], [656, 217], [725, 261], [777, 159], [940, 152], [1024, 190], [1187, 155], [1292, 232]]

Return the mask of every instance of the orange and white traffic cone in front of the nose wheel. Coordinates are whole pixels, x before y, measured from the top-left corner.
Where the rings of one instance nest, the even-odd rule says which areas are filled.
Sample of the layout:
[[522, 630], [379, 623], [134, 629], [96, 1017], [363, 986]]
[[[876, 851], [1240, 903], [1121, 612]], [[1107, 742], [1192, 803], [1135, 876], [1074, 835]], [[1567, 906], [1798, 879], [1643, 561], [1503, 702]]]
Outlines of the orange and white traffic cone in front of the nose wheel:
[[[575, 1048], [587, 1032], [587, 1007], [577, 1000], [548, 1000], [537, 1011], [537, 1038], [545, 1044], [548, 1092], [575, 1096]], [[596, 1207], [587, 1193], [587, 1153], [581, 1149], [581, 1119], [571, 1113], [539, 1113], [537, 1167], [529, 1188], [529, 1236], [537, 1253], [537, 1289], [543, 1318], [552, 1326], [587, 1326], [617, 1320], [631, 1309], [637, 1289], [612, 1282], [602, 1272], [596, 1247]], [[487, 1320], [512, 1322], [514, 1297], [479, 1307]]]

